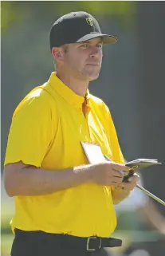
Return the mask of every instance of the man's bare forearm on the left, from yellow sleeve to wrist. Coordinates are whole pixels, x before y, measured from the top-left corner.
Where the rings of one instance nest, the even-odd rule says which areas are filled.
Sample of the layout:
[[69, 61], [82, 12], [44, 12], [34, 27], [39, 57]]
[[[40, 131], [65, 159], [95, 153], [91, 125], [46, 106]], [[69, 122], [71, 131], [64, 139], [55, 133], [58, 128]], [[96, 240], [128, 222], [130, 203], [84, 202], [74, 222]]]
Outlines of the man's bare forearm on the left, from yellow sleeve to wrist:
[[59, 171], [46, 171], [36, 167], [14, 170], [13, 179], [5, 179], [6, 192], [10, 196], [45, 195], [76, 187], [88, 182], [88, 167], [85, 165]]

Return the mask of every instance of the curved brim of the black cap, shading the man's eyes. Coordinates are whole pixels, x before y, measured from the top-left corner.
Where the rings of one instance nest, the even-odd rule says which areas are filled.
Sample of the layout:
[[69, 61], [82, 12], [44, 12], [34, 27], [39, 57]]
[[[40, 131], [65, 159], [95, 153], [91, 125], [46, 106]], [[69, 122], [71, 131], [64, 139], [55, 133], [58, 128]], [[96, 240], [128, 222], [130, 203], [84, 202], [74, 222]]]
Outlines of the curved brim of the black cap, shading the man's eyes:
[[84, 37], [81, 37], [77, 42], [88, 41], [90, 39], [94, 39], [96, 37], [101, 37], [104, 44], [115, 44], [117, 38], [106, 33], [88, 33]]

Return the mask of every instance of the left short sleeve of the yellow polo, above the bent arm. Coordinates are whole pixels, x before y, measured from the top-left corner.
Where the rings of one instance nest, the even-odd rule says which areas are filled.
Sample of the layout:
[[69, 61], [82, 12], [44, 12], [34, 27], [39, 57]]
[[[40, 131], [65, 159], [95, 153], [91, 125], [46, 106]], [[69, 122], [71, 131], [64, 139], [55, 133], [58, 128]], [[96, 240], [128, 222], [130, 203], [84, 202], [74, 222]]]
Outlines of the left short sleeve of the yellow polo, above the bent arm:
[[41, 167], [53, 140], [51, 106], [44, 93], [26, 97], [18, 105], [10, 126], [5, 163], [22, 161]]

